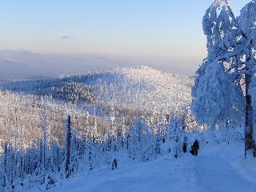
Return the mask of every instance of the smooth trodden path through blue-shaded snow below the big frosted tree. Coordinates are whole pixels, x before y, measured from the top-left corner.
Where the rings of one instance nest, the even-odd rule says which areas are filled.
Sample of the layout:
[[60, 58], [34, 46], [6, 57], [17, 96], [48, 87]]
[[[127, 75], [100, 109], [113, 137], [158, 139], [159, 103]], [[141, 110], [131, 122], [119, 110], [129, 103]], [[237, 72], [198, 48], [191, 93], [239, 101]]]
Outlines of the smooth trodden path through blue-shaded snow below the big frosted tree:
[[254, 183], [242, 178], [228, 162], [215, 156], [198, 156], [197, 161], [194, 161], [194, 170], [201, 191], [253, 192], [256, 189]]

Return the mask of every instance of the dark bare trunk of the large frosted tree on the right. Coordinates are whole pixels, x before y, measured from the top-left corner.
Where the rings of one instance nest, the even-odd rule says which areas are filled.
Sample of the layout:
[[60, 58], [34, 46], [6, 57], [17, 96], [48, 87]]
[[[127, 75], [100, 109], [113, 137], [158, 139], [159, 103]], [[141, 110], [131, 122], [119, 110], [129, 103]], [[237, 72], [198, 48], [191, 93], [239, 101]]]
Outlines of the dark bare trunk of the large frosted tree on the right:
[[245, 81], [246, 81], [246, 119], [245, 119], [245, 157], [247, 150], [254, 148], [254, 114], [253, 114], [253, 107], [251, 96], [249, 93], [249, 86], [251, 82], [251, 75], [246, 74]]

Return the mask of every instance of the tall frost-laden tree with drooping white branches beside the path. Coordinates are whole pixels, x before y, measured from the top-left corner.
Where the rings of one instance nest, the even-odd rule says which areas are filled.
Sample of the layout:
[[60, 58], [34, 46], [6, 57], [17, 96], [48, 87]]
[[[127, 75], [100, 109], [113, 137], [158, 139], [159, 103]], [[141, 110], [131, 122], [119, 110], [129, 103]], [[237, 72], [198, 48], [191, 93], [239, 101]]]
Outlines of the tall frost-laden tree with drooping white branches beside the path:
[[206, 10], [202, 25], [208, 55], [192, 90], [192, 110], [198, 122], [210, 127], [245, 122], [246, 150], [254, 147], [250, 85], [255, 67], [255, 10], [252, 1], [236, 18], [227, 0], [217, 0]]

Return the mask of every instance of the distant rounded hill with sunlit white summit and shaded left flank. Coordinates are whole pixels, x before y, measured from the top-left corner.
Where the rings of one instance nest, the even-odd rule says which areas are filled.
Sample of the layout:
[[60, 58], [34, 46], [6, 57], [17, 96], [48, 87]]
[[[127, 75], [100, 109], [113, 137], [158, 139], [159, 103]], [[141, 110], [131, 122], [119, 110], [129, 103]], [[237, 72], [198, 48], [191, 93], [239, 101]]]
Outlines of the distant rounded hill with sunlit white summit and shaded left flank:
[[15, 81], [1, 86], [72, 102], [111, 102], [119, 107], [170, 113], [191, 102], [193, 84], [193, 78], [141, 66], [63, 78]]

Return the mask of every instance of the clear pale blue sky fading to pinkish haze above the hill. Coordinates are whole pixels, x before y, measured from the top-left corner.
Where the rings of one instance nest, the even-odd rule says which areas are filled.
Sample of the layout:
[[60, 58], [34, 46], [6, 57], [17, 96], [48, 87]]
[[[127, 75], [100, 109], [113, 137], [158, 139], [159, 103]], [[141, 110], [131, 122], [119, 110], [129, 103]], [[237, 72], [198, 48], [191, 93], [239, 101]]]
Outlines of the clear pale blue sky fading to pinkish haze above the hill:
[[[193, 75], [206, 57], [202, 16], [211, 2], [0, 0], [0, 51], [13, 51], [8, 55], [12, 62], [19, 60], [17, 50], [22, 50], [26, 58], [30, 58], [27, 51], [32, 55], [41, 54], [42, 60], [43, 57], [49, 60], [53, 55], [70, 56], [70, 67], [72, 58], [77, 55], [85, 59], [82, 70], [90, 70], [94, 64], [90, 60], [91, 65], [86, 66], [86, 58], [90, 57], [101, 58], [98, 69], [124, 64], [149, 65], [159, 70]], [[238, 15], [242, 6], [250, 1], [230, 2]], [[104, 58], [111, 58], [114, 64], [107, 64]], [[6, 58], [2, 57], [2, 60]], [[6, 63], [0, 61], [1, 65]], [[33, 65], [39, 65], [38, 61]]]

